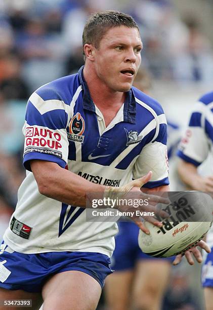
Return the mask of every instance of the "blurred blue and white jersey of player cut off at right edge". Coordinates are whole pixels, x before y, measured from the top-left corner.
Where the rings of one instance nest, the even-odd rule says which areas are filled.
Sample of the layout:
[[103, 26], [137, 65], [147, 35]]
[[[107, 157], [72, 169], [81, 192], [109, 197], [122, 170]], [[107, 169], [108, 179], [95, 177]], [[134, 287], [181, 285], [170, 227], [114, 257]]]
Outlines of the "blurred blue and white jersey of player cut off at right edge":
[[[213, 92], [202, 96], [195, 104], [178, 156], [198, 167], [202, 176], [213, 175]], [[213, 227], [206, 238], [213, 246]]]

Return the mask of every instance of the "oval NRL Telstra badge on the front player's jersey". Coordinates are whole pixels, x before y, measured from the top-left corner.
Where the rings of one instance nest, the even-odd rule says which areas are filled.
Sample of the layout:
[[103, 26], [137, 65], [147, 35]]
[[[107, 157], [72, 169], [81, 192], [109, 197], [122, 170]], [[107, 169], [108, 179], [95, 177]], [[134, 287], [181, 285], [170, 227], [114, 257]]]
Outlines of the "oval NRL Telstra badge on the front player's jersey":
[[69, 125], [68, 140], [83, 143], [84, 136], [82, 134], [84, 130], [85, 130], [85, 122], [80, 113], [77, 112], [71, 119]]

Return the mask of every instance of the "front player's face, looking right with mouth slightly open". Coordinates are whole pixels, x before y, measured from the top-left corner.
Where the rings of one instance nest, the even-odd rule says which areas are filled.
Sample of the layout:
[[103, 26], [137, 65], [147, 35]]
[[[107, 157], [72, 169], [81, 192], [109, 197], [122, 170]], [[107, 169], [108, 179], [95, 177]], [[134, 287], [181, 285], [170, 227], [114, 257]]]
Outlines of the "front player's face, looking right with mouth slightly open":
[[99, 79], [112, 91], [129, 91], [141, 64], [142, 47], [137, 28], [110, 28], [94, 49]]

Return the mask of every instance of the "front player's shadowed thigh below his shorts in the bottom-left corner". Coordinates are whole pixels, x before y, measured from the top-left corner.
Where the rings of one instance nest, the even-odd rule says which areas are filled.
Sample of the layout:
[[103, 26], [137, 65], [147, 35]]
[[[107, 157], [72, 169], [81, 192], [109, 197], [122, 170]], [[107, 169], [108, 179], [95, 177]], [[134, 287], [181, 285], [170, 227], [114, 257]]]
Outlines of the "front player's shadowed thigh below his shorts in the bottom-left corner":
[[[22, 290], [6, 290], [4, 288], [0, 288], [0, 310], [14, 310], [14, 307], [5, 307], [3, 305], [4, 301], [7, 300], [17, 300], [17, 299], [31, 299], [32, 307], [30, 309], [37, 310], [42, 304], [42, 297], [40, 293], [29, 293]], [[19, 309], [25, 309], [26, 307], [19, 307]]]

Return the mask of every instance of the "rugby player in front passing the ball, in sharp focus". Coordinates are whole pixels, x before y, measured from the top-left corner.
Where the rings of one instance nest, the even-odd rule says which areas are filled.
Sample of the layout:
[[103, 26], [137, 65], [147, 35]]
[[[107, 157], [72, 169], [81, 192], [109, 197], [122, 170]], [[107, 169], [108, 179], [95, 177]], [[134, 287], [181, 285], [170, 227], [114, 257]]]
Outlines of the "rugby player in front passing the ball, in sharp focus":
[[[87, 221], [87, 193], [111, 198], [133, 191], [141, 198], [144, 184], [168, 189], [163, 110], [131, 88], [141, 49], [132, 17], [94, 14], [83, 30], [85, 66], [30, 96], [27, 173], [1, 246], [0, 300], [32, 299], [33, 309], [42, 300], [45, 310], [95, 309], [111, 273], [117, 225]], [[189, 251], [186, 257], [193, 259]]]

